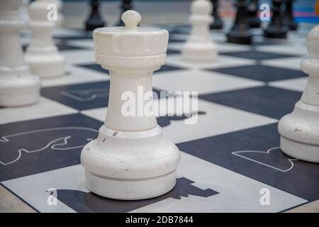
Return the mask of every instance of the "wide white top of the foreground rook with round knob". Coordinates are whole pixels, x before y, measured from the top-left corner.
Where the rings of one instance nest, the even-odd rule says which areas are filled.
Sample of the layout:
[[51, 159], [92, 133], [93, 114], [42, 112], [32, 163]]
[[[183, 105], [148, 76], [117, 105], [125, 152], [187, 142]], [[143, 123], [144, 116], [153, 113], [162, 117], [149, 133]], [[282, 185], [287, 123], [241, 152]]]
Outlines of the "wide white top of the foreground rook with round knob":
[[169, 33], [160, 28], [138, 27], [141, 17], [137, 11], [125, 11], [121, 18], [124, 27], [94, 30], [96, 62], [104, 67], [128, 64], [128, 68], [164, 64]]

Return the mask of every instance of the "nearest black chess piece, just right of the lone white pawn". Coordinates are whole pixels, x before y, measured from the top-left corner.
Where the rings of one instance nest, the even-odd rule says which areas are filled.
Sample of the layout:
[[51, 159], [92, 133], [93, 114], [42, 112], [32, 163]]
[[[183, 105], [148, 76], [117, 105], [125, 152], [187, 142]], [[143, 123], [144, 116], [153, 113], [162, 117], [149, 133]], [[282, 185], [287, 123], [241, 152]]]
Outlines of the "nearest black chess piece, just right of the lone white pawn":
[[237, 14], [230, 33], [227, 34], [228, 43], [251, 44], [252, 33], [247, 14], [247, 1], [237, 0]]

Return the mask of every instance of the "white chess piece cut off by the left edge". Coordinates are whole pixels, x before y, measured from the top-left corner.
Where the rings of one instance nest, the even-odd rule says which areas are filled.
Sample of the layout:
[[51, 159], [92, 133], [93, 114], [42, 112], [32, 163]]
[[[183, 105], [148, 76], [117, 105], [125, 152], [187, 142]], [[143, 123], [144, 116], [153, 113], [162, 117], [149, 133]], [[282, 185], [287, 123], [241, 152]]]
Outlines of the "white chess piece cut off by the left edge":
[[21, 0], [0, 0], [0, 106], [33, 104], [40, 97], [40, 79], [30, 74], [19, 31]]

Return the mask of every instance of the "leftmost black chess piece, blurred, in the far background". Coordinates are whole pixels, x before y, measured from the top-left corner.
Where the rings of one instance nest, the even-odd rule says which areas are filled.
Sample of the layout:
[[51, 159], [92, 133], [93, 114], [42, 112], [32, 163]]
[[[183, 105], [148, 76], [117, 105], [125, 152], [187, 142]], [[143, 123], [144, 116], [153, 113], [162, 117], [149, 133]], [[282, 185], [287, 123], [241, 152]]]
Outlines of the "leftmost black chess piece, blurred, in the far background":
[[95, 28], [106, 26], [106, 22], [101, 19], [99, 14], [99, 0], [91, 0], [91, 13], [89, 18], [85, 21], [85, 30], [93, 31]]

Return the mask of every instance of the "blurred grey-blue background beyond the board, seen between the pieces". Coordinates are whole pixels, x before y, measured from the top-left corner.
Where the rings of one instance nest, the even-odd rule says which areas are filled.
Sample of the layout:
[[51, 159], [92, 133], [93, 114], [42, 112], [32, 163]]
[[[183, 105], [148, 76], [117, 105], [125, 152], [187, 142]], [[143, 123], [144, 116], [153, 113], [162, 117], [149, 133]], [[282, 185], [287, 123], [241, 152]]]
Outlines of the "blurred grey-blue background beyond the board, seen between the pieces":
[[[113, 25], [121, 13], [119, 0], [101, 0], [100, 13]], [[220, 16], [225, 21], [232, 21], [235, 0], [220, 0]], [[259, 4], [272, 5], [271, 0], [260, 0]], [[133, 0], [134, 9], [142, 14], [142, 24], [187, 23], [191, 0]], [[318, 0], [296, 0], [294, 7], [296, 21], [301, 23], [319, 23]], [[82, 28], [83, 21], [89, 13], [87, 0], [63, 0], [62, 13], [65, 16], [65, 27]]]

